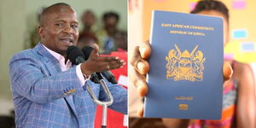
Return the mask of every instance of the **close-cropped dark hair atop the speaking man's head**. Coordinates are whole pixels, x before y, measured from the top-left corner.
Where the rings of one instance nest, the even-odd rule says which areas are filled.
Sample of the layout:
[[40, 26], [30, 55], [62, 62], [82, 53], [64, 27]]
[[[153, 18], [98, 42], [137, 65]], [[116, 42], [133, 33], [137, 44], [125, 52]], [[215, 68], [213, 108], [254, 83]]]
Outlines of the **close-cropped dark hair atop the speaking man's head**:
[[[42, 13], [39, 15], [39, 24], [40, 26], [44, 26], [45, 21], [48, 20], [47, 16], [50, 14], [53, 14], [55, 12], [61, 12], [61, 11], [65, 11], [67, 9], [71, 9], [71, 6], [67, 3], [55, 3], [53, 5], [50, 5], [49, 7], [45, 8]], [[75, 13], [75, 11], [73, 10], [73, 12]]]

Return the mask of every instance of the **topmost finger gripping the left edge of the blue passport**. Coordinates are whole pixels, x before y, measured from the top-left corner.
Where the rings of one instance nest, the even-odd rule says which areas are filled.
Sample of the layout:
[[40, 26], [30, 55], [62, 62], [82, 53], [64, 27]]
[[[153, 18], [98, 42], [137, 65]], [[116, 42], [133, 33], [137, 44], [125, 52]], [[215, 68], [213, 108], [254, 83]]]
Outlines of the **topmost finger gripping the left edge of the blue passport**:
[[140, 45], [139, 52], [143, 59], [148, 59], [149, 55], [151, 54], [149, 41], [146, 41], [142, 45]]

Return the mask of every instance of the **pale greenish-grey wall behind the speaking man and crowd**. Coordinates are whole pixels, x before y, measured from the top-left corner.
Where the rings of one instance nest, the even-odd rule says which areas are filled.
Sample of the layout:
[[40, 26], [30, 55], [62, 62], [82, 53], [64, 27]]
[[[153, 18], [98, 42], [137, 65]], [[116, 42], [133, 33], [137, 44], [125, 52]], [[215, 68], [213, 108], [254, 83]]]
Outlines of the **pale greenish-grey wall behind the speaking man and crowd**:
[[[9, 83], [9, 60], [15, 53], [29, 47], [31, 32], [37, 27], [37, 11], [53, 3], [68, 3], [77, 12], [79, 23], [84, 10], [96, 15], [97, 27], [102, 27], [102, 15], [106, 11], [119, 14], [119, 28], [126, 31], [126, 3], [120, 0], [1, 0], [0, 1], [0, 115], [8, 115], [13, 109]], [[83, 26], [80, 23], [79, 29]]]

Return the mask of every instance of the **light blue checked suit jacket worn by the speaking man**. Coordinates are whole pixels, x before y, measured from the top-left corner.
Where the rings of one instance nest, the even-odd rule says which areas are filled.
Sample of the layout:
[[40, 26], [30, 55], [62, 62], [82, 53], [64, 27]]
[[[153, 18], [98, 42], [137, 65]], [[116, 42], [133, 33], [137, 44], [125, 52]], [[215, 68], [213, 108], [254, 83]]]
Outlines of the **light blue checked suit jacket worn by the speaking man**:
[[[17, 128], [94, 127], [96, 103], [81, 86], [76, 67], [62, 72], [42, 44], [14, 55], [9, 73]], [[100, 100], [108, 100], [99, 84], [87, 82]], [[127, 90], [110, 83], [108, 88], [113, 95], [109, 108], [127, 113]]]

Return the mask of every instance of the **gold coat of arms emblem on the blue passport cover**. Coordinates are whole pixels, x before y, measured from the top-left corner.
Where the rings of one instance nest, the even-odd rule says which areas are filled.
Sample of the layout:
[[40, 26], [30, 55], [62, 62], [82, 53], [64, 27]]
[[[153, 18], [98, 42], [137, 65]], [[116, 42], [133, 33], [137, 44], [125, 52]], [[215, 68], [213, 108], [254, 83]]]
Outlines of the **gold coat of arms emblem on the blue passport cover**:
[[166, 79], [202, 81], [203, 63], [206, 58], [201, 50], [196, 50], [198, 45], [195, 46], [191, 53], [187, 49], [181, 52], [176, 44], [174, 46], [175, 49], [170, 49], [168, 55], [166, 55]]

